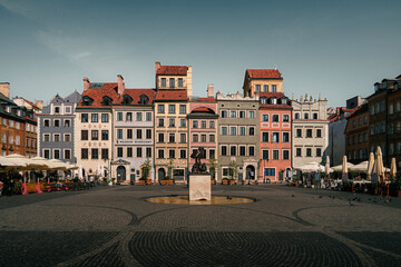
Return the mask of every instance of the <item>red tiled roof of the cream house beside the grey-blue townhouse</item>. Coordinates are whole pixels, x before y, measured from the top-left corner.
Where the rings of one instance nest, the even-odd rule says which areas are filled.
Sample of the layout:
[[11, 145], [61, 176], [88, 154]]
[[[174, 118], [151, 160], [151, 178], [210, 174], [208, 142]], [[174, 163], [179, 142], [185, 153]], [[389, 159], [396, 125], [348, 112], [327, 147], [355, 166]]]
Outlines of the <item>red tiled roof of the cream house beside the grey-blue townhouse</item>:
[[[77, 108], [110, 108], [111, 106], [101, 106], [102, 98], [107, 96], [111, 100], [115, 100], [119, 97], [117, 92], [117, 82], [105, 82], [101, 88], [90, 88], [91, 85], [92, 83], [89, 85], [89, 89], [87, 91], [82, 92], [82, 98]], [[85, 97], [94, 99], [91, 106], [82, 106]]]

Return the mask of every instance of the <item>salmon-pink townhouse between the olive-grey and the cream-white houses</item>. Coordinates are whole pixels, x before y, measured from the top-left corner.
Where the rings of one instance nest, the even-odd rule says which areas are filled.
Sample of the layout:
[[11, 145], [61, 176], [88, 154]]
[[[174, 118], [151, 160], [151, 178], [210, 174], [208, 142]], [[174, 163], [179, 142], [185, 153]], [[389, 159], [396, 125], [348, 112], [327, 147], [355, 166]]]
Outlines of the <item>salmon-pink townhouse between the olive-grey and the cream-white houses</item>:
[[292, 107], [282, 92], [260, 92], [261, 182], [282, 182], [291, 169]]

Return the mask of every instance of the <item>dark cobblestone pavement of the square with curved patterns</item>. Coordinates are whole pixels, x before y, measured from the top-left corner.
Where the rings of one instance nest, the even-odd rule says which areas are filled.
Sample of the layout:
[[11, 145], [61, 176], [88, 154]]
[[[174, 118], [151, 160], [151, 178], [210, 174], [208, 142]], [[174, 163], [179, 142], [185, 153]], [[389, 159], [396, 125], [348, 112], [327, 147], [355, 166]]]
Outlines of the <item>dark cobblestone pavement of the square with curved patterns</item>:
[[252, 204], [145, 201], [185, 186], [0, 198], [0, 266], [401, 266], [401, 199], [213, 186]]

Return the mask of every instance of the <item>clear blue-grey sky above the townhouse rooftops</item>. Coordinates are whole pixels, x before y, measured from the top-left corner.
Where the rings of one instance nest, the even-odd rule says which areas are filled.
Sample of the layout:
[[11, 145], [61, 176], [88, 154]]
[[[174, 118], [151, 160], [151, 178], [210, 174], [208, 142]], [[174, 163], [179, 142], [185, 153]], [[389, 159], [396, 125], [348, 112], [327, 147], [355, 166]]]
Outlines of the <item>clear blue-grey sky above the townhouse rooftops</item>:
[[155, 61], [190, 65], [194, 95], [242, 90], [246, 68], [274, 68], [284, 92], [329, 106], [401, 75], [401, 1], [0, 0], [0, 81], [48, 101], [82, 78], [151, 88]]

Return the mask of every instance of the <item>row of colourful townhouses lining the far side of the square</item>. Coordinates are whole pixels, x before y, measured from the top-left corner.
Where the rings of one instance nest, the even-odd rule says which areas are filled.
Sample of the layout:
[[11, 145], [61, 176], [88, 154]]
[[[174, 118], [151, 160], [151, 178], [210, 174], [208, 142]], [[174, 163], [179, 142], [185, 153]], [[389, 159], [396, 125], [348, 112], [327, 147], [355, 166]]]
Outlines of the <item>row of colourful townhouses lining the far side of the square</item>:
[[217, 180], [282, 181], [294, 167], [322, 162], [326, 100], [288, 99], [277, 69], [247, 69], [243, 93], [215, 93], [209, 85], [200, 98], [192, 96], [190, 66], [156, 62], [155, 72], [155, 88], [126, 88], [121, 76], [84, 78], [81, 95], [56, 96], [40, 116], [40, 155], [76, 162], [80, 176], [118, 181], [138, 180], [150, 164], [153, 180], [186, 182], [200, 147], [202, 161], [215, 161]]

